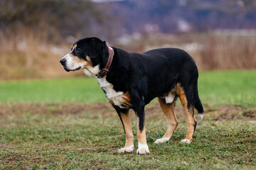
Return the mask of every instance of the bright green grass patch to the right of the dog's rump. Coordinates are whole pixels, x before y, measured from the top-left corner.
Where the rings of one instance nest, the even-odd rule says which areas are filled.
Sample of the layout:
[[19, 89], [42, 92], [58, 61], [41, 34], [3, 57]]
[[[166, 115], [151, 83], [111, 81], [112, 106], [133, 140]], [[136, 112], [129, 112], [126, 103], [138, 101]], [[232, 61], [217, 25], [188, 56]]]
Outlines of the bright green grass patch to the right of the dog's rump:
[[256, 106], [256, 70], [201, 72], [198, 91], [203, 104], [209, 106]]

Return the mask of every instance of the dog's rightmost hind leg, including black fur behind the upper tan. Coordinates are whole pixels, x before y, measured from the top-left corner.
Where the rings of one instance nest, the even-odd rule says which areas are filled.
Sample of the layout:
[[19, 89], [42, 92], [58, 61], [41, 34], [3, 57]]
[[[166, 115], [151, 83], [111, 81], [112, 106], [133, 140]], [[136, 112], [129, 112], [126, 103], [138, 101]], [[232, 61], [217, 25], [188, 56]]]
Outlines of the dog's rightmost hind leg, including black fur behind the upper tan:
[[178, 97], [181, 100], [181, 104], [184, 108], [184, 111], [186, 113], [186, 118], [188, 120], [188, 133], [185, 139], [181, 140], [181, 143], [190, 144], [193, 140], [193, 132], [196, 130], [196, 118], [194, 116], [194, 106], [192, 104], [193, 91], [190, 91], [189, 89], [187, 89], [185, 94], [183, 87], [178, 86]]

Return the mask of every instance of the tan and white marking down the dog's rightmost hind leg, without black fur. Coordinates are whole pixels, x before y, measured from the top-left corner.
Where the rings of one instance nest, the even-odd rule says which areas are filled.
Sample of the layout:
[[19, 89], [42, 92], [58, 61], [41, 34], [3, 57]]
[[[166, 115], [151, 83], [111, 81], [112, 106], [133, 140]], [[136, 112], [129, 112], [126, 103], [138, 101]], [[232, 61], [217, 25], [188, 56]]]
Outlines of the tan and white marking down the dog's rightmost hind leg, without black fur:
[[186, 118], [188, 119], [188, 133], [185, 139], [181, 140], [181, 142], [190, 143], [193, 140], [192, 138], [193, 138], [194, 125], [195, 125], [194, 118], [193, 118], [193, 108], [188, 109], [188, 101], [186, 100], [185, 91], [180, 85], [178, 86], [178, 97], [181, 100], [181, 104], [186, 113]]

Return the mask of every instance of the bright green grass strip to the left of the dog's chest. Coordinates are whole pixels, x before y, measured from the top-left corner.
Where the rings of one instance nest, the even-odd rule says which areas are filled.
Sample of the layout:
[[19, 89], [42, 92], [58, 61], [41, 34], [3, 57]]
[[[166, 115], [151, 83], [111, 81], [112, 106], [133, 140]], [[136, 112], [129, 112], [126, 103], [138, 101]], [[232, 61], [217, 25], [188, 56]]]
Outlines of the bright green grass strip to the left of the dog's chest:
[[97, 79], [75, 77], [0, 83], [3, 103], [107, 102]]

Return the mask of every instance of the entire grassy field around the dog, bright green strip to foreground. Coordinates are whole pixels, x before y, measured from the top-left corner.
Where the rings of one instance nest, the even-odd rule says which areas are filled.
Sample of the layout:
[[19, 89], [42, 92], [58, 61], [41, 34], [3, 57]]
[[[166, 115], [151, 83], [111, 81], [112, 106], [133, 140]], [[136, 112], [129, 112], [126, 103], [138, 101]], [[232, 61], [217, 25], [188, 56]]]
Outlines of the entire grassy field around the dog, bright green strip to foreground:
[[[146, 107], [151, 154], [117, 154], [125, 136], [114, 109], [86, 77], [0, 82], [0, 169], [255, 169], [256, 71], [201, 72], [205, 117], [191, 145], [179, 143], [187, 123], [169, 142], [154, 145], [166, 130], [159, 104]], [[131, 111], [132, 112], [132, 111]]]

